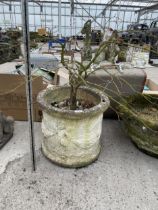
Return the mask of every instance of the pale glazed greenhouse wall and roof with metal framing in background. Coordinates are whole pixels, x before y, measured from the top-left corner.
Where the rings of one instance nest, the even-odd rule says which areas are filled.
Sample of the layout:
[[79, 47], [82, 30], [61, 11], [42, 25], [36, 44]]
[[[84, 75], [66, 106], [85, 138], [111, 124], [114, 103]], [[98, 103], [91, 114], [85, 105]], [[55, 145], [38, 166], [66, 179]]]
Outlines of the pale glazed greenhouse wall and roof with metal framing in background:
[[[104, 2], [104, 3], [103, 3]], [[31, 31], [45, 27], [53, 33], [70, 35], [70, 1], [29, 1], [29, 27]], [[154, 0], [107, 0], [107, 1], [81, 1], [74, 0], [75, 18], [73, 33], [79, 33], [83, 24], [89, 18], [92, 19], [92, 27], [111, 27], [118, 30], [126, 30], [127, 25], [133, 22], [146, 22], [150, 24], [157, 18], [158, 1]], [[61, 12], [59, 12], [61, 11]], [[137, 13], [136, 13], [137, 12]], [[60, 15], [61, 13], [61, 15]], [[61, 27], [59, 23], [61, 17]], [[21, 1], [0, 1], [0, 26], [2, 28], [21, 26]], [[75, 34], [74, 34], [75, 35]]]

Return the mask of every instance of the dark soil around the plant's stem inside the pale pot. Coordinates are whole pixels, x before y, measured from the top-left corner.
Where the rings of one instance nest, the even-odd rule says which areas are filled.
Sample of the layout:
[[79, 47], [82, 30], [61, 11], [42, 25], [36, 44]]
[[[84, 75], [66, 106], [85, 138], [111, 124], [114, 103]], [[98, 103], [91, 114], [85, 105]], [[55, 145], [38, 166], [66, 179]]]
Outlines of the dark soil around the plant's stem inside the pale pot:
[[[64, 110], [70, 110], [70, 99], [66, 99], [61, 102], [52, 102], [52, 106], [64, 109]], [[94, 107], [96, 104], [89, 102], [88, 100], [77, 100], [77, 108], [76, 110], [84, 110]]]

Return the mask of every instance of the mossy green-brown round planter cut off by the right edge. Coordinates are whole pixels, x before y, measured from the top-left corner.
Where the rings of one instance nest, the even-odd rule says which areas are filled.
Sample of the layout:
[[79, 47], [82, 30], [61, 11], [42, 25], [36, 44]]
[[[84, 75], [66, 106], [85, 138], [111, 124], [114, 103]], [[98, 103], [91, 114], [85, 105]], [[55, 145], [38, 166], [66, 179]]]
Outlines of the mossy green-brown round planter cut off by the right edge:
[[[150, 118], [150, 112], [141, 116], [139, 110], [143, 108], [154, 108], [158, 110], [158, 96], [137, 95], [130, 97], [127, 104], [120, 106], [120, 115], [126, 133], [134, 144], [145, 153], [158, 157], [158, 119]], [[131, 108], [133, 112], [131, 112]], [[148, 116], [147, 116], [148, 115]]]

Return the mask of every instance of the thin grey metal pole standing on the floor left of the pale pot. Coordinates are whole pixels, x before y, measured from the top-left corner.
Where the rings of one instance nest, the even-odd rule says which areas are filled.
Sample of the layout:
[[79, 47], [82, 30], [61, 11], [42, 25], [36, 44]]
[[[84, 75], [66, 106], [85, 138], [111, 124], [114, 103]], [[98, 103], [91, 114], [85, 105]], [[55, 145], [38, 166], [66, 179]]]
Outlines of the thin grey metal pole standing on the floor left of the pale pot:
[[32, 169], [33, 171], [35, 171], [36, 163], [35, 163], [33, 106], [32, 106], [32, 80], [31, 80], [32, 77], [31, 77], [31, 63], [30, 63], [28, 0], [21, 0], [21, 4], [22, 4], [22, 26], [23, 26], [25, 74], [26, 74], [26, 96], [27, 96], [28, 124], [29, 124], [29, 134], [30, 134], [30, 152], [32, 159]]

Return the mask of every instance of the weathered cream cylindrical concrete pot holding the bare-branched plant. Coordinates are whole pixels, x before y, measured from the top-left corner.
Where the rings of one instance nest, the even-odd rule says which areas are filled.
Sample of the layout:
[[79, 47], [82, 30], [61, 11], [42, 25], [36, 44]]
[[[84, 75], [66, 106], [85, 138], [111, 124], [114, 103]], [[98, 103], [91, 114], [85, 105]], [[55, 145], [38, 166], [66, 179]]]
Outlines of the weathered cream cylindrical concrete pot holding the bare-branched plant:
[[62, 110], [51, 105], [68, 99], [69, 87], [46, 89], [39, 93], [43, 109], [42, 151], [54, 163], [65, 167], [82, 167], [97, 159], [100, 153], [100, 135], [103, 112], [109, 99], [100, 91], [81, 87], [78, 99], [95, 104], [85, 110]]

